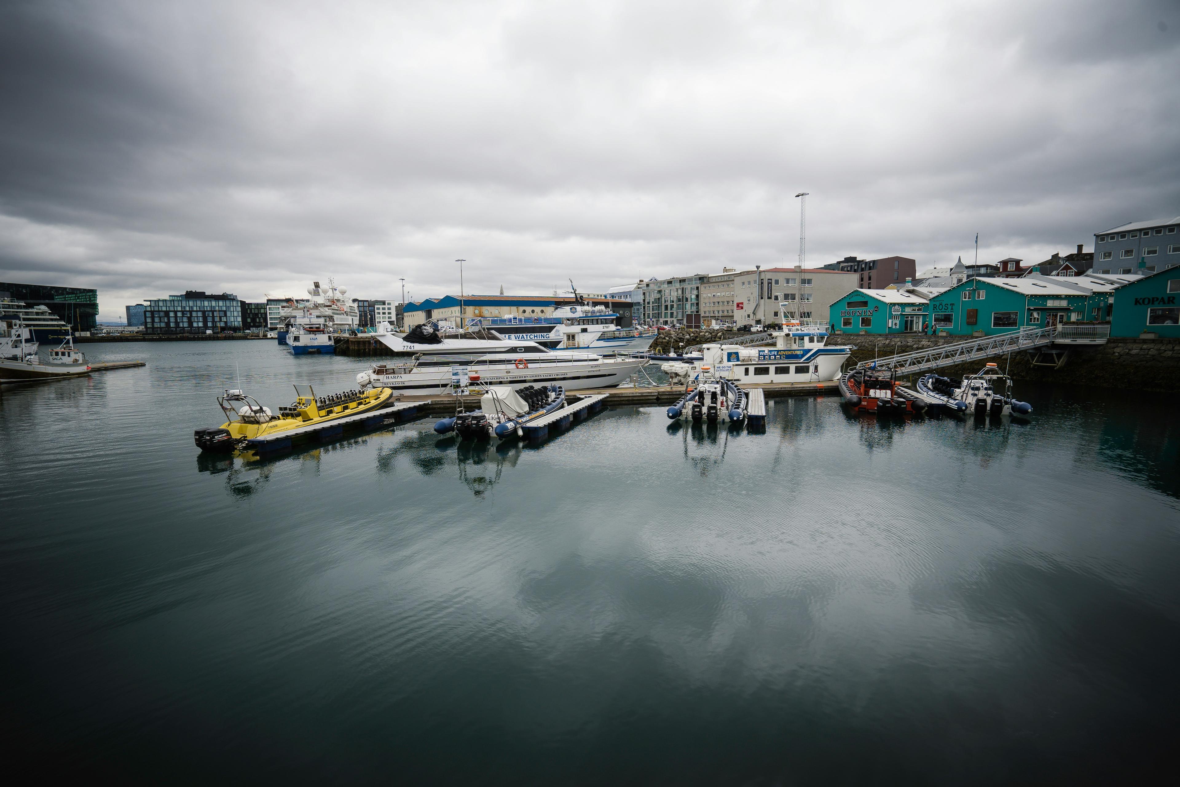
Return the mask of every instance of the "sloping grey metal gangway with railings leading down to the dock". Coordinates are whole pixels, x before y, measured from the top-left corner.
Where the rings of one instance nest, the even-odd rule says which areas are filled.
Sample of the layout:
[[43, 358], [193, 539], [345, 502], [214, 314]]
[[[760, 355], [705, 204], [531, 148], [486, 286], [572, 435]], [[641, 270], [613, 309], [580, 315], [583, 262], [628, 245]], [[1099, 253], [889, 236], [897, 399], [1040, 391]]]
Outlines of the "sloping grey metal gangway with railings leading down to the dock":
[[[1047, 328], [1021, 328], [995, 336], [982, 336], [968, 341], [942, 345], [912, 353], [899, 353], [872, 361], [861, 361], [854, 369], [876, 367], [893, 369], [899, 375], [920, 374], [944, 366], [955, 366], [968, 361], [1007, 355], [1016, 350], [1058, 350], [1053, 363], [1042, 366], [1061, 366], [1064, 352], [1071, 346], [1104, 345], [1110, 337], [1110, 326], [1049, 326]], [[1061, 346], [1061, 347], [1058, 347]]]

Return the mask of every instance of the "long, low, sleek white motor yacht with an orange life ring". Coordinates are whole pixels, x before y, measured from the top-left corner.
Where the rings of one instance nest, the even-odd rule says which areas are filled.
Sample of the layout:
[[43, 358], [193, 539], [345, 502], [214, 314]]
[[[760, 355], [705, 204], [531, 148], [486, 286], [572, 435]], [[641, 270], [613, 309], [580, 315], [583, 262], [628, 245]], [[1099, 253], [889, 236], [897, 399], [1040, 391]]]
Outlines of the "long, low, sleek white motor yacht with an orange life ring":
[[479, 387], [556, 383], [565, 391], [583, 391], [615, 387], [648, 363], [642, 358], [602, 358], [533, 347], [537, 352], [490, 353], [474, 361], [465, 355], [415, 355], [378, 363], [358, 374], [356, 385], [361, 391], [388, 388], [399, 395], [439, 394], [451, 391], [455, 380], [466, 376], [471, 385]]

